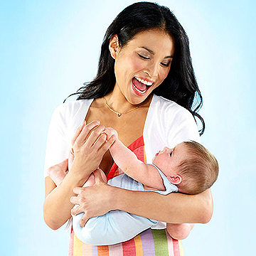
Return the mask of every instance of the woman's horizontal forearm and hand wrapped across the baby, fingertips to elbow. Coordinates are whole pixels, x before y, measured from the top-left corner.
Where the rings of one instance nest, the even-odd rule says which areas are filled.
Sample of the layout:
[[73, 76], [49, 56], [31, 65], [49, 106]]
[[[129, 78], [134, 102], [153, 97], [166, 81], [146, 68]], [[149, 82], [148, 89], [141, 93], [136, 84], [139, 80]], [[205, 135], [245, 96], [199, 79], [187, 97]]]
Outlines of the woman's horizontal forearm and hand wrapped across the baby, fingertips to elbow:
[[[89, 218], [110, 210], [124, 210], [166, 223], [208, 223], [213, 214], [210, 189], [193, 196], [181, 193], [163, 196], [154, 192], [128, 191], [98, 182], [92, 187], [75, 188], [75, 193], [82, 196], [84, 202], [81, 208], [73, 209], [73, 214], [85, 213], [85, 223]], [[102, 195], [105, 197], [102, 198]], [[72, 202], [80, 204], [78, 197], [73, 197]]]

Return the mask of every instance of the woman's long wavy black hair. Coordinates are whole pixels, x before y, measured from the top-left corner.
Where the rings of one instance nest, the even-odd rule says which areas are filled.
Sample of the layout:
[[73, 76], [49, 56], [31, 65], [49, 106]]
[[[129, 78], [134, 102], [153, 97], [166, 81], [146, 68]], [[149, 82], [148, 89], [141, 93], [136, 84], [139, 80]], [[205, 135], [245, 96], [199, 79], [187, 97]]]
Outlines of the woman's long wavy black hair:
[[[110, 55], [109, 43], [117, 35], [119, 46], [125, 46], [139, 32], [159, 28], [169, 33], [175, 41], [174, 59], [167, 78], [154, 90], [156, 95], [172, 100], [185, 107], [201, 121], [200, 134], [203, 134], [205, 122], [198, 114], [203, 98], [193, 71], [188, 36], [176, 16], [166, 7], [150, 2], [139, 2], [127, 6], [110, 24], [101, 47], [96, 77], [85, 82], [73, 95], [77, 100], [104, 97], [114, 89], [114, 59]], [[71, 95], [70, 95], [71, 96]]]

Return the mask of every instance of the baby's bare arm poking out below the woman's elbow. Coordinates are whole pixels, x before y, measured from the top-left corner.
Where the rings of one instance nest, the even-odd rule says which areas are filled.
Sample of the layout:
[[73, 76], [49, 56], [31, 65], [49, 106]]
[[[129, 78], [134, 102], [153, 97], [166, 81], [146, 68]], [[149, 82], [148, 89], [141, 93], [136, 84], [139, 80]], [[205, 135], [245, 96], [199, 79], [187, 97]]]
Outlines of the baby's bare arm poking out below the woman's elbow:
[[187, 238], [192, 228], [193, 224], [191, 223], [166, 223], [166, 230], [169, 235], [176, 240], [183, 240]]

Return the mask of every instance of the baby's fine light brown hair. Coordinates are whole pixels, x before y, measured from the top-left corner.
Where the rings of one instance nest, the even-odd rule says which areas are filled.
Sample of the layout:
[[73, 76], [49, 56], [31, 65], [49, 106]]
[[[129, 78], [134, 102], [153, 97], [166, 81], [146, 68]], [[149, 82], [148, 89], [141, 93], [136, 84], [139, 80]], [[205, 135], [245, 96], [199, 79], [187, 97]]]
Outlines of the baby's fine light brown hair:
[[218, 161], [215, 156], [198, 142], [183, 142], [188, 157], [178, 165], [178, 174], [183, 177], [179, 190], [183, 193], [197, 194], [213, 185], [218, 178]]

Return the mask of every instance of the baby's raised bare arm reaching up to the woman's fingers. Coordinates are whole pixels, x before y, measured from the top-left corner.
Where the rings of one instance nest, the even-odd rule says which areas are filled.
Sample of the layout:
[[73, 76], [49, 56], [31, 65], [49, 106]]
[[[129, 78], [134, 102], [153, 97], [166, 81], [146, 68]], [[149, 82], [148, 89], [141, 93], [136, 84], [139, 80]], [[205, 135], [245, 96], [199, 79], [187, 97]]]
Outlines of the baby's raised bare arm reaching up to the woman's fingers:
[[119, 141], [117, 131], [107, 127], [104, 133], [107, 134], [107, 138], [111, 137], [112, 134], [117, 137], [114, 144], [110, 147], [110, 153], [114, 162], [124, 171], [124, 174], [146, 186], [162, 191], [165, 190], [159, 171], [154, 166], [144, 164], [143, 161], [137, 159], [137, 156]]

